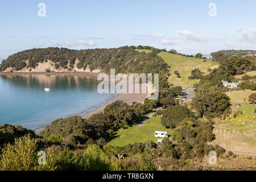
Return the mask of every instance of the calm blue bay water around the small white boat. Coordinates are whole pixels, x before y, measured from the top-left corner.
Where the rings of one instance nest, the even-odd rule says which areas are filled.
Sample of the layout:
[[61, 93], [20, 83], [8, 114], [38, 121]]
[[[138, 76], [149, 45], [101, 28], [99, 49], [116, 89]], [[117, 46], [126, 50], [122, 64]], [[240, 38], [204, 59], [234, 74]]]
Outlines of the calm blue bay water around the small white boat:
[[[46, 87], [50, 92], [44, 91]], [[55, 119], [80, 115], [111, 100], [97, 80], [79, 76], [0, 75], [0, 125], [39, 129]]]

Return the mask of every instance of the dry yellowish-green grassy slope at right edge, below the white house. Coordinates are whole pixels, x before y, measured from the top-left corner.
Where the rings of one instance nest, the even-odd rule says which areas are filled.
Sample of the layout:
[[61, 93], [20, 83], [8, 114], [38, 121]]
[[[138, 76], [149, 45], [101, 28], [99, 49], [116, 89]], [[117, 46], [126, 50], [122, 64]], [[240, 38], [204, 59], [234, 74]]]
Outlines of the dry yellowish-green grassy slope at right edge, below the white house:
[[[243, 113], [234, 118], [230, 114], [224, 121], [216, 119], [213, 133], [216, 135], [214, 143], [218, 143], [226, 150], [239, 155], [256, 156], [256, 114], [255, 105], [250, 105], [248, 97], [253, 90], [226, 92], [232, 103], [232, 110], [241, 110]], [[246, 98], [246, 101], [243, 100]], [[236, 107], [237, 103], [241, 107]]]

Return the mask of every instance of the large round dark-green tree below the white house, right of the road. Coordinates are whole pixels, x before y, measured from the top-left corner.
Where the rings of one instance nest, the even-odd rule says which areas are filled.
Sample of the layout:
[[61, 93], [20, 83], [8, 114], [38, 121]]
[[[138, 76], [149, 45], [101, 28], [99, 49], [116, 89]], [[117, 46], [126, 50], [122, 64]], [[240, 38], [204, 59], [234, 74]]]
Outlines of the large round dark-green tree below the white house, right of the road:
[[230, 98], [218, 89], [205, 89], [198, 92], [192, 101], [192, 107], [207, 118], [220, 117], [230, 110]]

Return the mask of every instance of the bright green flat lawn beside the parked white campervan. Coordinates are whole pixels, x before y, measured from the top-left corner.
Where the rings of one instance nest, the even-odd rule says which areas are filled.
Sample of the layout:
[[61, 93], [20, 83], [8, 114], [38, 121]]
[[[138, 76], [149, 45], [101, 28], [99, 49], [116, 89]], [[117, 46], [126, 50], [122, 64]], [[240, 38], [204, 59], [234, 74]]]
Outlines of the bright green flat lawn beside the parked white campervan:
[[110, 144], [114, 146], [125, 146], [129, 143], [146, 142], [152, 140], [156, 142], [159, 138], [155, 138], [155, 131], [167, 131], [168, 135], [172, 133], [171, 129], [166, 129], [161, 124], [161, 117], [152, 117], [148, 119], [144, 126], [134, 125], [126, 129], [118, 130]]

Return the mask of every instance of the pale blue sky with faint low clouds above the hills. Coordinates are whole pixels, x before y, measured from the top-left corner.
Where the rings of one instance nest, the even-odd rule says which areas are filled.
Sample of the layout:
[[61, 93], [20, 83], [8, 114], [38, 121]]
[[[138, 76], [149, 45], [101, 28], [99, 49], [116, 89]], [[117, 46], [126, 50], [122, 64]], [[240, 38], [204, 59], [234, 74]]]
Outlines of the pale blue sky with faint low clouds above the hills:
[[254, 0], [1, 0], [0, 60], [47, 47], [255, 49], [255, 7]]

